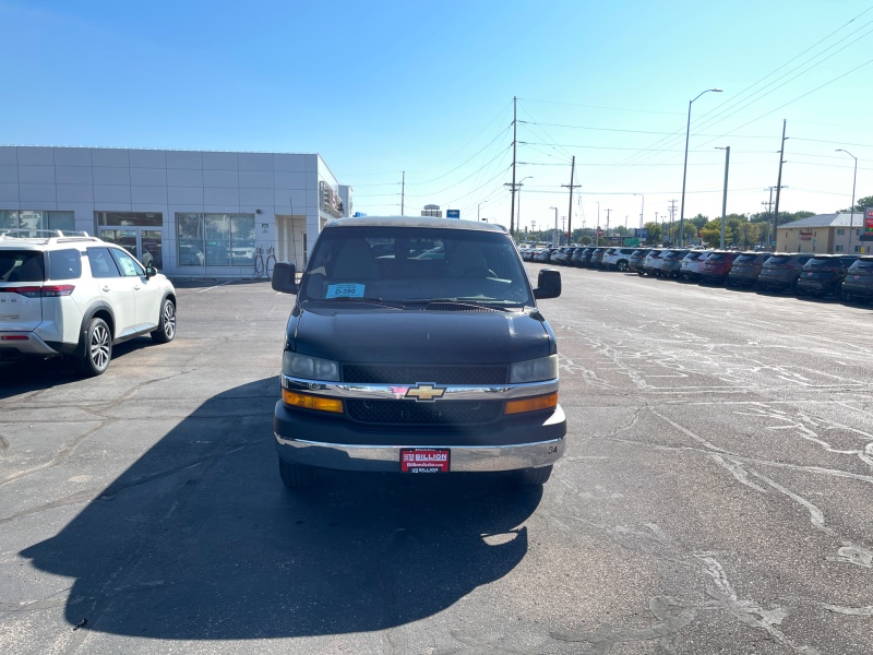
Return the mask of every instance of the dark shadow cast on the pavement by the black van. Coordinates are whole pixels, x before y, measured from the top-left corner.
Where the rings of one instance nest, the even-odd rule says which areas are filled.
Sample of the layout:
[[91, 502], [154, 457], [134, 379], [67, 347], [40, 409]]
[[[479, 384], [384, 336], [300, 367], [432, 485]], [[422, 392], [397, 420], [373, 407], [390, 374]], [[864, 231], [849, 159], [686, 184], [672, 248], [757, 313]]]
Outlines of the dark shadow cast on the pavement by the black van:
[[272, 436], [278, 381], [203, 403], [55, 537], [22, 552], [74, 579], [83, 630], [264, 639], [383, 630], [511, 572], [541, 489], [505, 475], [323, 472], [290, 493]]

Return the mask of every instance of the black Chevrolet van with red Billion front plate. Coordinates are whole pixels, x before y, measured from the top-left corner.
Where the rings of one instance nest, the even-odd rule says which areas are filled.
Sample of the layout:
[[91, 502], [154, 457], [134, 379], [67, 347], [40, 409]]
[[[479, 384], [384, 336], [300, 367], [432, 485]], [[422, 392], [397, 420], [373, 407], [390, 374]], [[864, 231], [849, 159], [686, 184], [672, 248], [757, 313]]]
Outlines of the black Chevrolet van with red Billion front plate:
[[273, 426], [288, 488], [319, 468], [513, 471], [542, 485], [564, 450], [554, 333], [498, 225], [430, 217], [328, 222], [296, 294]]

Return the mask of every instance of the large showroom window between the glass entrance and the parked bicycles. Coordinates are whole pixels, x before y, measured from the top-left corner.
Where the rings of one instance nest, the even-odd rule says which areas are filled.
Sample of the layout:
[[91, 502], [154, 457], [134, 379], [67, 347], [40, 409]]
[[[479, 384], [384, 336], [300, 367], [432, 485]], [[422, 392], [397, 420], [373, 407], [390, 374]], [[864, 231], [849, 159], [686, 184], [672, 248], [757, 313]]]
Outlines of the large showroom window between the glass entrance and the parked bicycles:
[[180, 266], [251, 266], [254, 214], [176, 214]]

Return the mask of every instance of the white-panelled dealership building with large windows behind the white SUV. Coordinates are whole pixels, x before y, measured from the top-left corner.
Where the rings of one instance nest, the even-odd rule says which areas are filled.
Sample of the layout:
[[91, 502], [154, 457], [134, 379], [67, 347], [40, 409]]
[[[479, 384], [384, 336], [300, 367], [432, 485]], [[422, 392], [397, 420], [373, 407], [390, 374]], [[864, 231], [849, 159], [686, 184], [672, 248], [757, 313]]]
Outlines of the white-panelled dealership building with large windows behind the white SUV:
[[87, 231], [175, 277], [252, 276], [259, 249], [300, 270], [350, 211], [318, 154], [0, 146], [0, 231]]

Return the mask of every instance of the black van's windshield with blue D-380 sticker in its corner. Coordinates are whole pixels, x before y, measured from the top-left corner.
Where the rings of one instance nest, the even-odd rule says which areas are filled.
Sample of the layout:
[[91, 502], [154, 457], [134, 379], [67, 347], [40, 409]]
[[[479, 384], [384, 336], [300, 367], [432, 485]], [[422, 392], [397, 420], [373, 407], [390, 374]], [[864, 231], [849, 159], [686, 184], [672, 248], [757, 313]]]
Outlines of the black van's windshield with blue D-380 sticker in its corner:
[[325, 229], [301, 282], [304, 301], [533, 306], [507, 235], [466, 229]]

